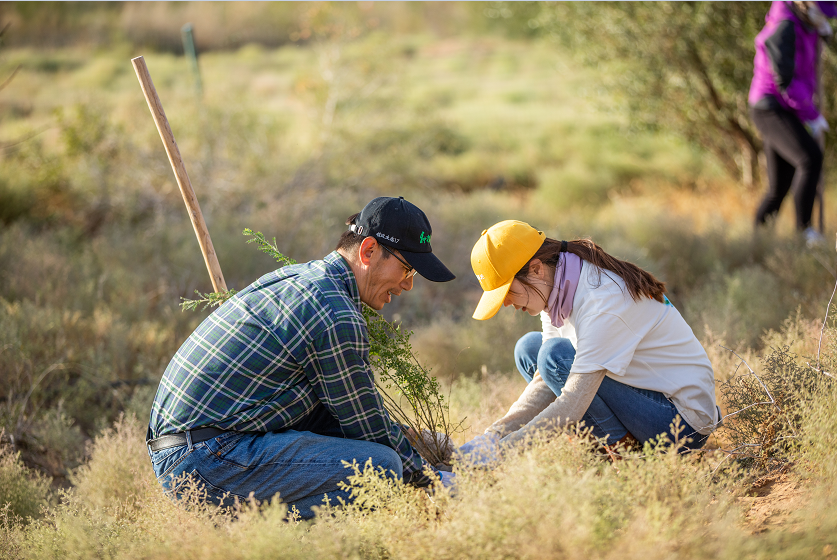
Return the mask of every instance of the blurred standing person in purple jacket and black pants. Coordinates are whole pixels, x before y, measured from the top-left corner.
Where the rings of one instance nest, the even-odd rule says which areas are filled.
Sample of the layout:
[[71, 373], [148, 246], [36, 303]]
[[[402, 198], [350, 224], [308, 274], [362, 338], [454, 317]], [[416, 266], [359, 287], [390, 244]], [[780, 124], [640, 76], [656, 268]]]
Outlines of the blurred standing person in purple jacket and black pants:
[[811, 227], [811, 214], [828, 123], [817, 110], [814, 95], [819, 40], [831, 35], [830, 17], [837, 17], [835, 2], [773, 2], [767, 24], [756, 36], [748, 96], [750, 114], [764, 141], [769, 183], [756, 225], [774, 216], [793, 189], [796, 227], [809, 245], [823, 240]]

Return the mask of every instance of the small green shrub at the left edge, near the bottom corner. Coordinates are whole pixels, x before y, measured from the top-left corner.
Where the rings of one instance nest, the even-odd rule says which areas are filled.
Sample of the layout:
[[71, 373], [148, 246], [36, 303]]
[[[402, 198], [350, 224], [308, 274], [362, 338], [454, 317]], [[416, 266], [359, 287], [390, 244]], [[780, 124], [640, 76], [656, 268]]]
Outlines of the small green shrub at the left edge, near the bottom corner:
[[47, 505], [49, 490], [49, 479], [27, 469], [10, 445], [0, 445], [0, 509], [4, 524], [10, 526], [16, 520], [39, 517], [41, 508]]

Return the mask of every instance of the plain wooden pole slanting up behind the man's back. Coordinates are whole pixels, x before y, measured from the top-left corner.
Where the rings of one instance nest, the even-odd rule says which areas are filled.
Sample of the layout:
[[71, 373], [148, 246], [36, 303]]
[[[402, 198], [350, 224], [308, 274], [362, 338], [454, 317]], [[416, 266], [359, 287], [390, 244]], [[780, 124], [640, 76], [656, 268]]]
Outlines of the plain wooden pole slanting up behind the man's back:
[[212, 279], [212, 287], [216, 292], [225, 292], [227, 291], [227, 283], [224, 282], [224, 275], [221, 273], [221, 265], [218, 263], [218, 257], [215, 255], [215, 248], [212, 246], [209, 230], [203, 219], [198, 198], [192, 189], [192, 183], [189, 181], [189, 175], [186, 174], [183, 158], [180, 157], [180, 150], [177, 148], [174, 134], [172, 134], [171, 127], [169, 127], [166, 113], [163, 111], [163, 104], [160, 103], [160, 98], [157, 97], [157, 90], [154, 89], [154, 82], [151, 81], [151, 75], [148, 73], [148, 67], [145, 65], [145, 59], [138, 56], [131, 59], [131, 63], [134, 65], [134, 71], [137, 73], [137, 78], [139, 78], [142, 93], [145, 95], [148, 108], [151, 110], [151, 116], [154, 118], [154, 124], [157, 125], [157, 131], [160, 133], [163, 146], [165, 146], [166, 153], [169, 156], [169, 162], [171, 162], [174, 177], [177, 179], [177, 186], [180, 187], [180, 194], [183, 195], [186, 210], [189, 211], [189, 219], [192, 221], [192, 227], [195, 228], [195, 235], [201, 246], [203, 260]]

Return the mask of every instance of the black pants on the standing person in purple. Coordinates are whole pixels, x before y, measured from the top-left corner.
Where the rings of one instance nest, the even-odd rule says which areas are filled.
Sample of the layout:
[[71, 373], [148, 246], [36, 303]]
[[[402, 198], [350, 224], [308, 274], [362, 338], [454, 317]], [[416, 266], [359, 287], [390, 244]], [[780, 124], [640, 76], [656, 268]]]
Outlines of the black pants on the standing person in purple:
[[764, 141], [769, 183], [756, 212], [756, 224], [775, 215], [785, 195], [793, 189], [796, 227], [809, 227], [822, 171], [822, 150], [793, 113], [782, 108], [751, 108], [750, 115]]

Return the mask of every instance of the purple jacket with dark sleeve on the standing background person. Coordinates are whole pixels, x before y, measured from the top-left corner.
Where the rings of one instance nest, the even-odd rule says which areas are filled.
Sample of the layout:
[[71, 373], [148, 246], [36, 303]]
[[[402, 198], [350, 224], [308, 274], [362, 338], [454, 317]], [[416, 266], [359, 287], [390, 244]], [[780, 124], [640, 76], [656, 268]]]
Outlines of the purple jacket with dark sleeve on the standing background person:
[[819, 36], [816, 29], [799, 21], [788, 4], [773, 2], [764, 18], [767, 25], [756, 35], [748, 101], [752, 106], [764, 107], [772, 103], [764, 98], [773, 96], [779, 106], [799, 120], [812, 121], [820, 116], [813, 99], [817, 90]]

